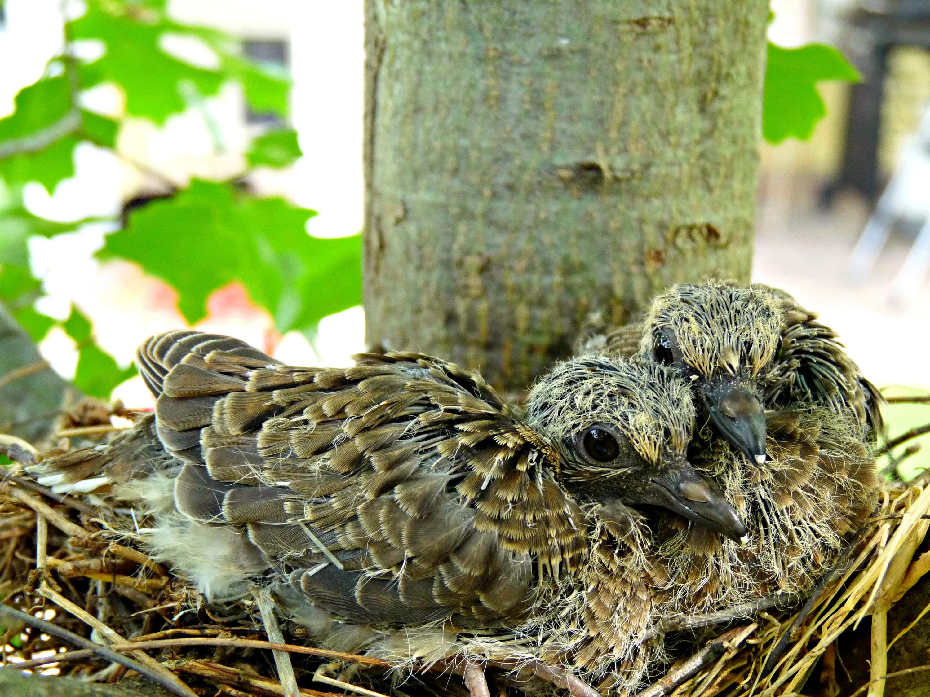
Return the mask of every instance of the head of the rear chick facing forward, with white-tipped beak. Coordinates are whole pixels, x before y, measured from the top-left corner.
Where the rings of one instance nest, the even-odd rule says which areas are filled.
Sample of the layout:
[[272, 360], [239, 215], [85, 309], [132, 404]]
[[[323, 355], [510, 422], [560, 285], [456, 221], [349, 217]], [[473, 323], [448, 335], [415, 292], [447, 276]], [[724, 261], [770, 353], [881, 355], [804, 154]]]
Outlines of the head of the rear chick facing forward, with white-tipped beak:
[[697, 409], [751, 461], [765, 462], [765, 413], [758, 384], [775, 358], [782, 311], [761, 287], [680, 283], [658, 296], [640, 355], [692, 384]]

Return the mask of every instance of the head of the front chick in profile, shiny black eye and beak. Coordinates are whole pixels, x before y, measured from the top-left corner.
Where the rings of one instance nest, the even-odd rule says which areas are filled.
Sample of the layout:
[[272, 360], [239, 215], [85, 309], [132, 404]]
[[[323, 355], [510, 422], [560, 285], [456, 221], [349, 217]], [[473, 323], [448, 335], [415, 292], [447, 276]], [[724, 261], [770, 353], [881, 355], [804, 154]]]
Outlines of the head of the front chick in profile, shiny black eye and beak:
[[685, 457], [695, 409], [671, 370], [582, 356], [539, 378], [526, 416], [558, 449], [557, 477], [579, 501], [662, 506], [735, 539], [746, 534]]

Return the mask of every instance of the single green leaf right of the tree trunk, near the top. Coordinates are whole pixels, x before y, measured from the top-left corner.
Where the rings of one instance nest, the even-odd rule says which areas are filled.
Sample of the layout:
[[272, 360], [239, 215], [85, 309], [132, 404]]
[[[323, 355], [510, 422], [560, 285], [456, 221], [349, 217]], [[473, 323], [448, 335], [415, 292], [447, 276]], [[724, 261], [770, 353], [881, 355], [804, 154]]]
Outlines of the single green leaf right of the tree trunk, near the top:
[[769, 43], [765, 65], [762, 132], [770, 143], [806, 140], [827, 108], [817, 92], [825, 80], [857, 82], [859, 74], [832, 46], [782, 48]]

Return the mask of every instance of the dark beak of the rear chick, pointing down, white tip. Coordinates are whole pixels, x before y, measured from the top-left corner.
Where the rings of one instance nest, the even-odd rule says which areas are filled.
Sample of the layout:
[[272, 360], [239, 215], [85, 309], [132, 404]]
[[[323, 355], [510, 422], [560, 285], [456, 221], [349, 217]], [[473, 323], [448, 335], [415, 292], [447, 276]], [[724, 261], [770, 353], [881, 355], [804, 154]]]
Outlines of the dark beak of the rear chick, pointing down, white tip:
[[757, 465], [765, 463], [765, 410], [747, 388], [726, 385], [704, 395], [711, 424]]

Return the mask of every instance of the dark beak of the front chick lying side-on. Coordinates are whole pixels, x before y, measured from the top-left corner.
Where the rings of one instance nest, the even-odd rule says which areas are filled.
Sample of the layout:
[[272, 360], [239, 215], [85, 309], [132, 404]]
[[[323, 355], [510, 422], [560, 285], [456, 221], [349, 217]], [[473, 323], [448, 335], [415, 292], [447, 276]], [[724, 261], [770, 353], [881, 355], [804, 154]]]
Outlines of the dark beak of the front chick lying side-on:
[[644, 503], [668, 508], [734, 540], [742, 540], [749, 533], [724, 494], [687, 461], [650, 481], [652, 500]]

